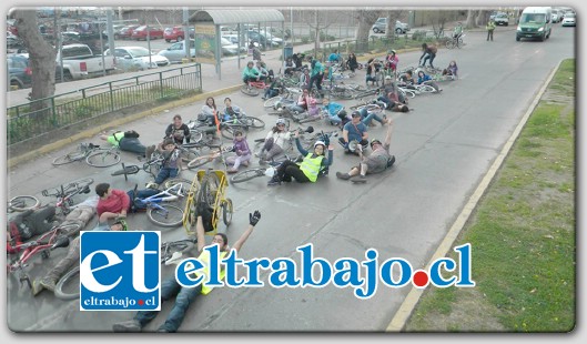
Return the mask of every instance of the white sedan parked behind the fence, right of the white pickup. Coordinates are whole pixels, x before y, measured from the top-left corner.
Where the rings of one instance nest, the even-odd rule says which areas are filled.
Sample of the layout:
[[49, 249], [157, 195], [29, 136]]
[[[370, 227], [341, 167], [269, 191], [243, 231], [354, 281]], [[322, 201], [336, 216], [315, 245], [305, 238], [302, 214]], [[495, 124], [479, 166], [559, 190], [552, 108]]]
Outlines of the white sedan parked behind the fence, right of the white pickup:
[[[110, 49], [104, 52], [104, 55], [111, 55]], [[146, 70], [171, 64], [168, 58], [154, 54], [143, 47], [114, 48], [114, 58], [117, 59], [117, 68], [124, 71]]]

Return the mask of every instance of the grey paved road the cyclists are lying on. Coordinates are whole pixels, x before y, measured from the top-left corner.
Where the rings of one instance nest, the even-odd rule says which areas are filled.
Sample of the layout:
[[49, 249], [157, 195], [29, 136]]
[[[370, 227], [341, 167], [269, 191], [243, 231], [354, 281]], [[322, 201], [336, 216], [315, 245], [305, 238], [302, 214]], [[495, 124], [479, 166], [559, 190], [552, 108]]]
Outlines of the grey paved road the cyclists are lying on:
[[[356, 159], [344, 155], [337, 146], [331, 175], [316, 184], [293, 183], [270, 189], [265, 186], [266, 180], [257, 179], [231, 185], [229, 193], [235, 214], [229, 237], [234, 241], [246, 225], [247, 213], [260, 209], [263, 219], [242, 250], [245, 260], [266, 256], [298, 261], [295, 249], [313, 243], [315, 254], [331, 262], [338, 257], [361, 261], [365, 251], [374, 247], [379, 252], [379, 262], [398, 256], [414, 266], [423, 266], [547, 74], [561, 59], [574, 57], [574, 44], [575, 30], [559, 26], [544, 43], [516, 42], [512, 30], [498, 31], [494, 42], [486, 42], [480, 32], [467, 34], [464, 49], [443, 49], [435, 61], [437, 67], [444, 67], [449, 60], [456, 60], [461, 80], [444, 83], [441, 95], [414, 99], [411, 105], [415, 111], [411, 113], [389, 113], [395, 119], [392, 146], [397, 158], [391, 171], [371, 176], [366, 185], [338, 181], [334, 172], [347, 170]], [[418, 57], [418, 52], [413, 52], [399, 59], [405, 67], [415, 64]], [[239, 74], [233, 74], [236, 72], [235, 67], [227, 64], [223, 72], [226, 78], [217, 81], [211, 75], [205, 79], [204, 89], [236, 83]], [[362, 75], [357, 78], [363, 80]], [[241, 93], [227, 95], [269, 125], [274, 120], [263, 113], [260, 99]], [[216, 97], [216, 101], [222, 98]], [[173, 114], [191, 119], [201, 105], [170, 109], [128, 128], [141, 132], [143, 142], [156, 142]], [[267, 130], [269, 127], [251, 132], [250, 142]], [[383, 134], [381, 127], [370, 131], [371, 136], [382, 138]], [[84, 164], [51, 166], [50, 160], [64, 151], [9, 171], [9, 194], [39, 195], [47, 186], [82, 175], [92, 176], [97, 182], [109, 181], [114, 188], [124, 190], [146, 181], [144, 174], [138, 174], [125, 182], [122, 178], [110, 176], [111, 169], [98, 170]], [[133, 156], [124, 153], [124, 161], [131, 162]], [[191, 175], [190, 172], [184, 174]], [[143, 214], [130, 221], [134, 229], [153, 229]], [[182, 229], [163, 232], [164, 240], [182, 235]], [[64, 252], [55, 251], [48, 263], [54, 264], [63, 255]], [[30, 270], [31, 275], [39, 275], [43, 267], [39, 261]], [[164, 275], [170, 273], [164, 270]], [[79, 312], [75, 302], [57, 301], [48, 293], [32, 299], [29, 290], [19, 289], [12, 276], [8, 279], [8, 322], [13, 330], [110, 331], [113, 322], [131, 316], [130, 312]], [[324, 289], [216, 290], [194, 302], [180, 330], [383, 331], [407, 292], [407, 287], [392, 290], [379, 285], [374, 297], [360, 301], [351, 289], [332, 285]], [[163, 313], [168, 312], [169, 305], [164, 305]], [[162, 322], [163, 315], [146, 330], [154, 330]]]

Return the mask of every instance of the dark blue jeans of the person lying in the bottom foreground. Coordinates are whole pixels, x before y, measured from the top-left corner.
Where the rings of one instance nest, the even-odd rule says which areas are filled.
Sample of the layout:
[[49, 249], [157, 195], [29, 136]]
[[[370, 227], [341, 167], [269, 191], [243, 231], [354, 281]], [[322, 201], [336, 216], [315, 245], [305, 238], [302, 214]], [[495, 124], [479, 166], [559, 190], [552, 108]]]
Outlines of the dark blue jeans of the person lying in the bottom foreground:
[[[163, 325], [159, 326], [159, 328], [164, 328], [168, 332], [176, 332], [181, 323], [183, 322], [185, 311], [188, 311], [188, 307], [190, 306], [192, 301], [201, 292], [202, 284], [195, 287], [182, 287], [178, 283], [178, 281], [175, 281], [175, 276], [171, 276], [168, 280], [163, 281], [161, 283], [161, 302], [171, 300], [175, 295], [176, 296], [173, 308], [169, 313], [168, 318], [165, 320]], [[144, 327], [146, 323], [155, 318], [158, 313], [159, 311], [140, 311], [136, 312], [134, 318], [141, 324], [141, 327]]]

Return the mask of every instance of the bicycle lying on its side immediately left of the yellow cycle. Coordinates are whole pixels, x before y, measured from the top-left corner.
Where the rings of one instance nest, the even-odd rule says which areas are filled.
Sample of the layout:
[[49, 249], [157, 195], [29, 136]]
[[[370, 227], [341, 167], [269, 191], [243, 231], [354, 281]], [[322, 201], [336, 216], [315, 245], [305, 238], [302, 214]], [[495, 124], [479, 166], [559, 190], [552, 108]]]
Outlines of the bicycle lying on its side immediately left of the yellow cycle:
[[158, 194], [148, 196], [145, 199], [136, 198], [138, 188], [139, 185], [135, 184], [131, 204], [139, 209], [146, 208], [146, 216], [151, 222], [162, 227], [175, 227], [181, 225], [183, 219], [183, 210], [180, 206], [173, 204], [162, 205], [162, 203], [178, 201], [180, 198], [186, 195], [182, 182], [174, 183], [173, 185], [168, 186], [168, 189], [159, 192]]

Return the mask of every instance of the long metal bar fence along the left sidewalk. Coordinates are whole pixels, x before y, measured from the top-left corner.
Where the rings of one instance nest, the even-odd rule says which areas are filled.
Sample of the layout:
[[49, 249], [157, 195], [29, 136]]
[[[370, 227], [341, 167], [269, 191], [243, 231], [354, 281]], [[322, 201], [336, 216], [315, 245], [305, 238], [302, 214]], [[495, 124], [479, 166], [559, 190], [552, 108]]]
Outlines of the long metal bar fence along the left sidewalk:
[[202, 92], [199, 63], [126, 78], [7, 109], [8, 145], [125, 108]]

